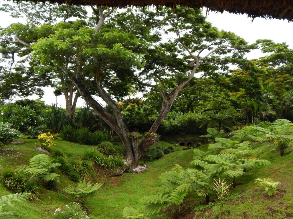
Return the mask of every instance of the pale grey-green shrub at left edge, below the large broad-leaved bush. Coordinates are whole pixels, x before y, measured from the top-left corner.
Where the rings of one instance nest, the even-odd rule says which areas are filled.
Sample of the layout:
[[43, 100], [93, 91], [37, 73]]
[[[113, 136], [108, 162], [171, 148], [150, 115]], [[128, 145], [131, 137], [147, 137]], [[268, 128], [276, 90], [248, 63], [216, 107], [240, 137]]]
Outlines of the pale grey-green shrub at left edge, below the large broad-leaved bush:
[[11, 128], [10, 124], [0, 122], [0, 148], [9, 144], [13, 139], [21, 138], [22, 134]]

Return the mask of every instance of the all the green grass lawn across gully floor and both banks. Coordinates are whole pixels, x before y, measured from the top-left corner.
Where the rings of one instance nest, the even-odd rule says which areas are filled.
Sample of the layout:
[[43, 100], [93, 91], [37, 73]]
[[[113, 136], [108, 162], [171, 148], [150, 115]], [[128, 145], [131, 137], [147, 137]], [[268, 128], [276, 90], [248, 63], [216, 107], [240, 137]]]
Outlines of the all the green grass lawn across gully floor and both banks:
[[[34, 149], [38, 145], [38, 140], [25, 139], [24, 145], [9, 145], [17, 151], [15, 156], [0, 157], [0, 171], [4, 168], [15, 168], [16, 166], [28, 164], [31, 157], [40, 152]], [[57, 140], [57, 145], [52, 150], [62, 150], [68, 156], [80, 157], [84, 149], [93, 146], [79, 145], [72, 142]], [[158, 145], [169, 145], [166, 142], [159, 142]], [[292, 149], [287, 149], [285, 156], [281, 157], [275, 151], [273, 145], [263, 143], [255, 146], [259, 148], [259, 158], [267, 159], [272, 164], [262, 167], [254, 172], [250, 172], [245, 178], [240, 178], [240, 185], [231, 190], [229, 197], [224, 203], [225, 213], [222, 218], [265, 218], [265, 219], [285, 219], [293, 218], [293, 153]], [[201, 146], [201, 150], [206, 150], [206, 146]], [[123, 218], [122, 211], [125, 207], [133, 207], [139, 211], [144, 210], [144, 204], [140, 199], [144, 195], [156, 194], [159, 190], [158, 176], [164, 171], [168, 171], [174, 164], [180, 164], [184, 168], [190, 167], [193, 159], [192, 150], [182, 150], [179, 147], [175, 152], [165, 155], [162, 159], [147, 162], [149, 171], [142, 174], [124, 173], [117, 177], [107, 177], [99, 175], [94, 181], [103, 183], [103, 187], [96, 196], [90, 197], [86, 206], [93, 219], [118, 219]], [[270, 177], [274, 181], [279, 181], [280, 191], [274, 197], [268, 197], [263, 190], [254, 183], [255, 178]], [[62, 175], [61, 182], [56, 191], [46, 190], [40, 187], [40, 200], [32, 200], [14, 205], [12, 210], [16, 215], [6, 216], [7, 219], [39, 219], [50, 218], [50, 215], [58, 207], [74, 201], [70, 197], [62, 194], [61, 190], [69, 184], [73, 184]], [[9, 194], [3, 185], [0, 185], [1, 195]], [[189, 197], [188, 212], [184, 213], [186, 219], [193, 218], [215, 218], [217, 213], [217, 203], [213, 201], [213, 206], [202, 205], [202, 199]], [[201, 209], [201, 210], [199, 210]], [[161, 215], [162, 219], [167, 217]]]

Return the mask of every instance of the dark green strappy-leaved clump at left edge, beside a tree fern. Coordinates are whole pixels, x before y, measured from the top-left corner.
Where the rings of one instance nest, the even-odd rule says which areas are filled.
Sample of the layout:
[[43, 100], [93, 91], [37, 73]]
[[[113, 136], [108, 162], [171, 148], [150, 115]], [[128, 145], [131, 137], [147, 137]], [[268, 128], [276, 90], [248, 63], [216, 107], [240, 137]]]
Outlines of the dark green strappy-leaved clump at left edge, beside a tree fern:
[[29, 178], [23, 173], [15, 173], [12, 170], [6, 169], [1, 173], [1, 183], [4, 187], [12, 192], [19, 193], [31, 193], [37, 195], [38, 187], [34, 182], [30, 181]]

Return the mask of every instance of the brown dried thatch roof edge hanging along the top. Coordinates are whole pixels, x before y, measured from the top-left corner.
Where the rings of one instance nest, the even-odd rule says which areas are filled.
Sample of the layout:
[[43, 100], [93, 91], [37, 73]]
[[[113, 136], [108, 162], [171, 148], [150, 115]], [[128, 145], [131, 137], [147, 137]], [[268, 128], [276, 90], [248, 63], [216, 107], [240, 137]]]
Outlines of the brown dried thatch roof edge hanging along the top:
[[[18, 0], [16, 0], [18, 1]], [[24, 0], [26, 1], [26, 0]], [[38, 2], [39, 0], [32, 0]], [[278, 18], [293, 20], [293, 0], [40, 0], [51, 3], [80, 5], [103, 5], [109, 7], [128, 6], [168, 6], [207, 7], [211, 11], [228, 11], [244, 14], [252, 18]]]

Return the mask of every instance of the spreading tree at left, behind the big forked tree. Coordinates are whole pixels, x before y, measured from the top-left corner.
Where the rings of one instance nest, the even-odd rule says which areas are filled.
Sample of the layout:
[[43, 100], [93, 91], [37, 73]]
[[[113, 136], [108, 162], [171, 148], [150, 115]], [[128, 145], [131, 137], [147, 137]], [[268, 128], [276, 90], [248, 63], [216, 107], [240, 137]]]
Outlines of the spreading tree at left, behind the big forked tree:
[[[0, 54], [4, 63], [7, 63], [4, 70], [9, 76], [5, 81], [5, 84], [9, 84], [6, 88], [10, 88], [10, 93], [28, 96], [43, 95], [43, 87], [54, 87], [56, 91], [61, 90], [64, 94], [67, 115], [74, 114], [77, 99], [80, 97], [76, 92], [77, 88], [59, 69], [42, 68], [35, 74], [34, 68], [40, 63], [31, 59], [31, 45], [41, 37], [54, 33], [52, 28], [58, 20], [65, 22], [72, 18], [85, 19], [85, 8], [67, 4], [19, 2], [3, 4], [0, 11], [8, 12], [12, 18], [25, 21], [0, 28]], [[23, 90], [25, 92], [22, 92]], [[6, 96], [7, 94], [8, 91]]]

